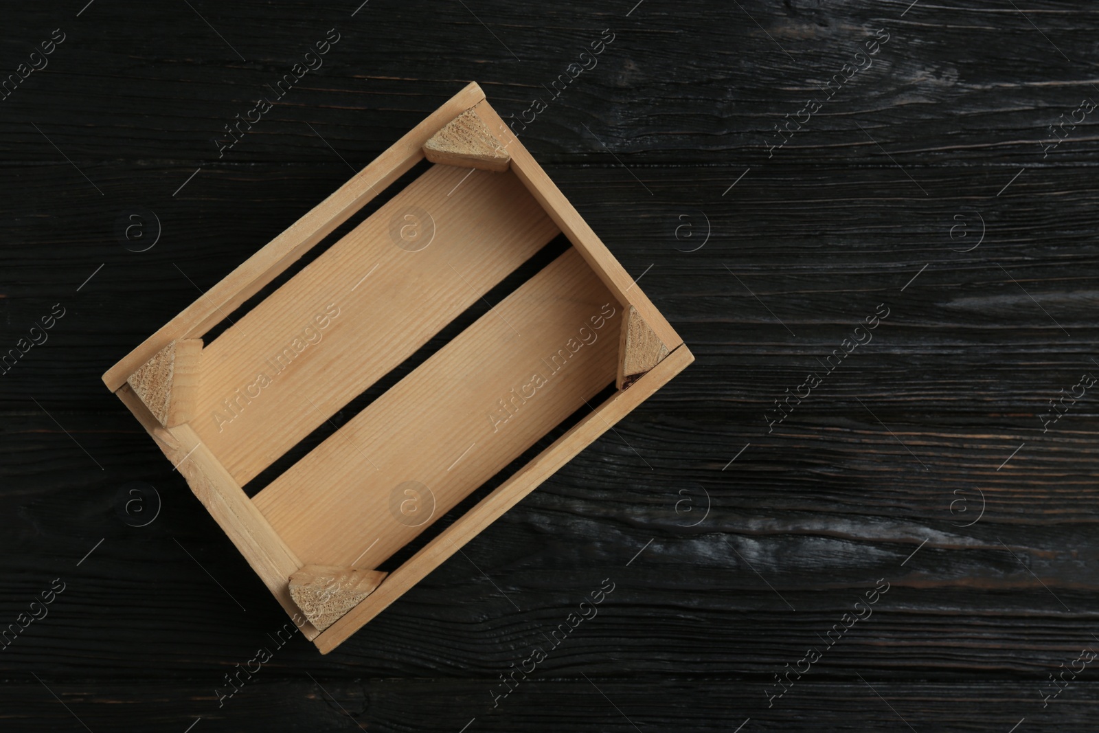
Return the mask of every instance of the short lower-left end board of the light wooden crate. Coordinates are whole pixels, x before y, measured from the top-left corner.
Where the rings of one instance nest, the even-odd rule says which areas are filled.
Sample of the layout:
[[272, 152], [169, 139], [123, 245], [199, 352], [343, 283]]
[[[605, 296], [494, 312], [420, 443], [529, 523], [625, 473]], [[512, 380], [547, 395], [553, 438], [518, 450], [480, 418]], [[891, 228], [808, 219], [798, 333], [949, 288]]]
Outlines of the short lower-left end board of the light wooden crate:
[[[130, 408], [160, 451], [187, 479], [187, 485], [202, 506], [244, 558], [264, 581], [290, 618], [300, 610], [290, 598], [290, 576], [301, 567], [293, 552], [287, 547], [271, 525], [229, 473], [218, 463], [210, 449], [201, 443], [188, 425], [166, 429], [160, 426], [130, 385], [123, 385], [115, 395]], [[320, 632], [310, 623], [300, 626], [307, 638]]]

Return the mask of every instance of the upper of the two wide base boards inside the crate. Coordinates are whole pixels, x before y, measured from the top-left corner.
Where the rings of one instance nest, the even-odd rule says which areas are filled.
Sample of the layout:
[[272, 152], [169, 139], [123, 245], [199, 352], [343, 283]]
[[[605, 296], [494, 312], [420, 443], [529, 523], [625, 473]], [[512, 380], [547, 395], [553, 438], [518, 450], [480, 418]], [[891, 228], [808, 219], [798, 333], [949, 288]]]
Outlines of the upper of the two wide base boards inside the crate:
[[206, 348], [191, 424], [243, 486], [557, 233], [511, 173], [432, 166]]

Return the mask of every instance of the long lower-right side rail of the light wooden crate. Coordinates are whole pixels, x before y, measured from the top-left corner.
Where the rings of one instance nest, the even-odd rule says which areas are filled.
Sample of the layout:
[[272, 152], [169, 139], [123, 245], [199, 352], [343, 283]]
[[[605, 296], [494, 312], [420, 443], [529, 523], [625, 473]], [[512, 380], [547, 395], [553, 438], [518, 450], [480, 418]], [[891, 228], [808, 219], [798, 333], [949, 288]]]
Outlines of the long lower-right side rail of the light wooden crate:
[[317, 648], [328, 654], [343, 643], [693, 360], [695, 356], [687, 346], [680, 345], [630, 389], [609, 397], [591, 414], [390, 573], [377, 590], [313, 640]]

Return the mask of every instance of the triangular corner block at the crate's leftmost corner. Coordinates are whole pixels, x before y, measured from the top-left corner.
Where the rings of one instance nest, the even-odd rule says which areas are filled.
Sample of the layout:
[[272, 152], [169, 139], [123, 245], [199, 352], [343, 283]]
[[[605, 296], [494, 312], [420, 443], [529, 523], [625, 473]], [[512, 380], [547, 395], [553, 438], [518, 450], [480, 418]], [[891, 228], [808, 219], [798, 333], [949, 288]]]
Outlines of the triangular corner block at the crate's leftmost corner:
[[193, 417], [201, 357], [201, 338], [180, 338], [154, 354], [126, 379], [164, 427], [185, 423]]

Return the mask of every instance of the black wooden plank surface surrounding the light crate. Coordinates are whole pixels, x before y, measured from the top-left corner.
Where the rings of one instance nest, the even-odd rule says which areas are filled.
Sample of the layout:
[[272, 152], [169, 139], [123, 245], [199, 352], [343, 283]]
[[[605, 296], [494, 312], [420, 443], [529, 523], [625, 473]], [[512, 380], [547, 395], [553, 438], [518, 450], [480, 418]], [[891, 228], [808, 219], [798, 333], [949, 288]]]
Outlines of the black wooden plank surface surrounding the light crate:
[[[1099, 375], [1096, 116], [1040, 144], [1099, 100], [1099, 10], [358, 1], [4, 8], [0, 75], [66, 40], [0, 101], [0, 351], [66, 315], [0, 376], [0, 625], [66, 589], [0, 652], [0, 730], [1099, 728], [1097, 665], [1043, 703], [1099, 649], [1096, 390], [1040, 418]], [[219, 160], [222, 125], [331, 27]], [[219, 708], [286, 617], [100, 375], [464, 84], [518, 114], [603, 29], [522, 140], [698, 360], [336, 652], [296, 637]], [[873, 66], [768, 157], [878, 29]], [[134, 252], [147, 212], [160, 236]], [[879, 303], [874, 341], [768, 433]], [[599, 615], [493, 709], [604, 578]]]

